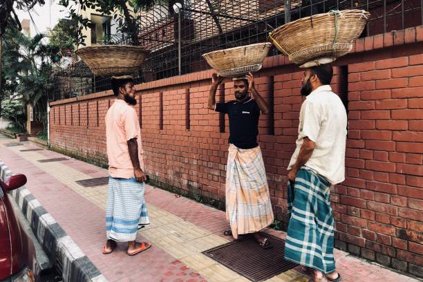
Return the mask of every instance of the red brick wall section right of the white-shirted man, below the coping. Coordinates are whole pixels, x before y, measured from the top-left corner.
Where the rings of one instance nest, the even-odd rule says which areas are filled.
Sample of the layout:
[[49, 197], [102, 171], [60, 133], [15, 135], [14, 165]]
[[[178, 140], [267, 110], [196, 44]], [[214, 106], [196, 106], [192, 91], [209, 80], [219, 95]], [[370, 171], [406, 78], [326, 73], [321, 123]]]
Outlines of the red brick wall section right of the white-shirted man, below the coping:
[[423, 54], [348, 66], [348, 169], [335, 187], [339, 239], [353, 244], [350, 252], [361, 247], [367, 259], [399, 269], [423, 263], [422, 75]]

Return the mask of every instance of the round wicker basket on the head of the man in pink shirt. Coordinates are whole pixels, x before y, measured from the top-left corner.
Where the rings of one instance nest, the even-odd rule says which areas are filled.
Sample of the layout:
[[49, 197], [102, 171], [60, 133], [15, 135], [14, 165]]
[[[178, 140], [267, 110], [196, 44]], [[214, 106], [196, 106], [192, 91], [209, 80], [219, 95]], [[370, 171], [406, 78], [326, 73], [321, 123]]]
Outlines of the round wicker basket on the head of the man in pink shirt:
[[116, 75], [138, 71], [149, 50], [140, 46], [102, 45], [75, 51], [95, 75]]

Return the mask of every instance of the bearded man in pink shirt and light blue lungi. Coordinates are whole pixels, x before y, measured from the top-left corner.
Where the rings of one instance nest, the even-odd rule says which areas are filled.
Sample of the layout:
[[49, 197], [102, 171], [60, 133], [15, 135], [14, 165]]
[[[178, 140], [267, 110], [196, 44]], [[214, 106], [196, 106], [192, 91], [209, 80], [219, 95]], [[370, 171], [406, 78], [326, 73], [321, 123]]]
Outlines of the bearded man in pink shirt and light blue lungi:
[[112, 77], [116, 100], [106, 113], [106, 145], [109, 158], [109, 193], [106, 209], [106, 237], [103, 254], [110, 254], [116, 242], [128, 242], [133, 256], [151, 247], [135, 241], [138, 229], [149, 224], [144, 189], [147, 176], [142, 160], [141, 129], [132, 106], [135, 86], [131, 76]]

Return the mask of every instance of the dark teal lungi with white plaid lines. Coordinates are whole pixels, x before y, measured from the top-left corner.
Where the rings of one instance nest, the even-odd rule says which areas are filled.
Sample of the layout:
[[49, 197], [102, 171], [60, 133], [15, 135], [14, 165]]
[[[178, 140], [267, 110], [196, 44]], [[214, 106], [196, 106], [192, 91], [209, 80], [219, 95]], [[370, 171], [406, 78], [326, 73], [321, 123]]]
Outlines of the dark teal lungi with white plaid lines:
[[285, 259], [325, 274], [335, 271], [330, 182], [316, 171], [301, 167], [294, 187], [288, 183], [288, 216]]

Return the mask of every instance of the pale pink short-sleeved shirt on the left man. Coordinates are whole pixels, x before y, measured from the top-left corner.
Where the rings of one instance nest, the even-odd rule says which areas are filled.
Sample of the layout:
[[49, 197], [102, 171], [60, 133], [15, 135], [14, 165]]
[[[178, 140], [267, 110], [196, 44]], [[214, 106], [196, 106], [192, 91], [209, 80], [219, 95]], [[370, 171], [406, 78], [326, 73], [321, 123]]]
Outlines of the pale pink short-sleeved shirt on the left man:
[[137, 113], [124, 100], [115, 100], [106, 113], [106, 145], [111, 177], [133, 178], [133, 166], [127, 143], [133, 138], [137, 138], [138, 158], [140, 167], [144, 170], [141, 129]]

